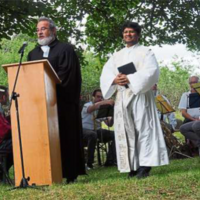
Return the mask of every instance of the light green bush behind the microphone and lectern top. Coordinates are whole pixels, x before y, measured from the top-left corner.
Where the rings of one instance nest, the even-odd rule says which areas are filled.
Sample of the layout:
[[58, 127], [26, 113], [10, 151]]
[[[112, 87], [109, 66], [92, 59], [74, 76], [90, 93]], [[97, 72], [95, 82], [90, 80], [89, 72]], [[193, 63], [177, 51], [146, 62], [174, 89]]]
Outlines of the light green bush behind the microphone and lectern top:
[[0, 85], [8, 85], [7, 74], [1, 66], [3, 64], [19, 63], [20, 54], [18, 54], [18, 51], [24, 41], [28, 42], [28, 46], [25, 49], [23, 57], [23, 61], [26, 61], [28, 52], [36, 45], [35, 40], [26, 35], [18, 35], [13, 37], [12, 40], [3, 39], [0, 42]]

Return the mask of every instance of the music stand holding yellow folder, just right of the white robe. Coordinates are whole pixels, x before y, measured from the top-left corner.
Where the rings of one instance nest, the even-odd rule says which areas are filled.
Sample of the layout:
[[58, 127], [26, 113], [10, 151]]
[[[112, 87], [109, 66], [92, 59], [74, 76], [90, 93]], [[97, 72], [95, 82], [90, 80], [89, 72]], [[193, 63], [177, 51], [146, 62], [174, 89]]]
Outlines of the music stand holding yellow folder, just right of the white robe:
[[163, 120], [164, 114], [175, 112], [172, 106], [169, 105], [169, 103], [163, 98], [162, 95], [156, 96], [155, 101], [156, 101], [156, 107], [161, 113], [161, 120]]

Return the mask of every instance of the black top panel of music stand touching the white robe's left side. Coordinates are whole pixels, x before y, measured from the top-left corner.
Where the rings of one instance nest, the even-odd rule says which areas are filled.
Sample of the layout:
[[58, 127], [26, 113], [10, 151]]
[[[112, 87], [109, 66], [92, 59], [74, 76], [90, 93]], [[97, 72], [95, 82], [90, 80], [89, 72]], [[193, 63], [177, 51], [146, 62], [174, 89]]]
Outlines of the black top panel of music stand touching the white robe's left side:
[[96, 119], [113, 117], [113, 114], [114, 114], [113, 106], [111, 106], [110, 104], [101, 105], [98, 109]]

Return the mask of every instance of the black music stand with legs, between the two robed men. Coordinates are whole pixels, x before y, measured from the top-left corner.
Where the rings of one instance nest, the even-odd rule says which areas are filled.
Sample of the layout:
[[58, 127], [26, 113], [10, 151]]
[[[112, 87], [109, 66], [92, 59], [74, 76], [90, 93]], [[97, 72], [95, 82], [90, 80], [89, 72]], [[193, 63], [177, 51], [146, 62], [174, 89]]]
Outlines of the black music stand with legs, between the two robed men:
[[[101, 105], [98, 109], [97, 116], [95, 117], [96, 119], [107, 119], [108, 117], [113, 117], [114, 114], [114, 107], [106, 104], [106, 105]], [[103, 142], [103, 132], [101, 129], [101, 142]], [[102, 148], [102, 147], [101, 147]], [[104, 150], [107, 153], [107, 148], [104, 147]], [[101, 156], [100, 156], [100, 148], [99, 148], [99, 141], [97, 142], [97, 156], [98, 156], [98, 163], [101, 166]], [[104, 157], [103, 157], [104, 160]]]

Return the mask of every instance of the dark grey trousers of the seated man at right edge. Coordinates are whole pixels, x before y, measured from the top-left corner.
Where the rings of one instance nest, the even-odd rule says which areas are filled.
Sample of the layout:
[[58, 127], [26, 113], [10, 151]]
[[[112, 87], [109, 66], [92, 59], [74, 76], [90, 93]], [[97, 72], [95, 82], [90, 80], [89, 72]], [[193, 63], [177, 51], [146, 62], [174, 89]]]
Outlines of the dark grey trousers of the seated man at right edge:
[[200, 121], [192, 121], [181, 125], [180, 132], [200, 148]]

